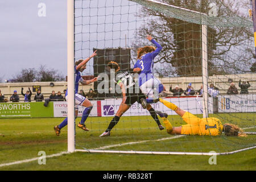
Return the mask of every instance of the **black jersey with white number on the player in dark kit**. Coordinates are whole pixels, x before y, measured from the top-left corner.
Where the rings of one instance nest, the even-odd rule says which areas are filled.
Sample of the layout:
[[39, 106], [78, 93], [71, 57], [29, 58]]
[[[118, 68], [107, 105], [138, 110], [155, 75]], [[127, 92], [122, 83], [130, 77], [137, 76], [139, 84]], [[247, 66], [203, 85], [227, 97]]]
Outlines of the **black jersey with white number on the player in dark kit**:
[[141, 89], [136, 84], [133, 78], [133, 69], [123, 69], [115, 73], [115, 83], [119, 84], [120, 82], [125, 85], [126, 96], [130, 94], [141, 94]]

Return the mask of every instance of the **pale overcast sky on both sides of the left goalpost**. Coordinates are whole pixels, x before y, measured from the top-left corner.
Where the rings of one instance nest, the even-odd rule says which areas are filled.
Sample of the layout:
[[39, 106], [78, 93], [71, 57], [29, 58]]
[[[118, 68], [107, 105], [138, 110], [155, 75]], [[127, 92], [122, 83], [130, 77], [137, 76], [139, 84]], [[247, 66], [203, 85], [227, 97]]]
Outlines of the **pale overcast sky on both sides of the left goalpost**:
[[[46, 16], [38, 15], [42, 9], [38, 7], [40, 3], [46, 5]], [[91, 16], [76, 20], [78, 24], [84, 24], [82, 28], [77, 27], [77, 31], [84, 32], [82, 45], [77, 44], [77, 49], [83, 49], [82, 54], [78, 52], [77, 58], [85, 59], [93, 47], [124, 47], [125, 34], [127, 44], [130, 44], [138, 23], [132, 15], [138, 8], [134, 5], [127, 0], [84, 0], [82, 4], [77, 3], [77, 7], [83, 7], [76, 10], [78, 16]], [[121, 12], [126, 15], [121, 17]], [[123, 23], [118, 23], [120, 21]], [[98, 26], [95, 26], [96, 22]], [[1, 0], [0, 24], [0, 78], [12, 78], [22, 68], [39, 68], [40, 64], [67, 75], [66, 0]], [[88, 66], [87, 72], [92, 73], [92, 61]]]

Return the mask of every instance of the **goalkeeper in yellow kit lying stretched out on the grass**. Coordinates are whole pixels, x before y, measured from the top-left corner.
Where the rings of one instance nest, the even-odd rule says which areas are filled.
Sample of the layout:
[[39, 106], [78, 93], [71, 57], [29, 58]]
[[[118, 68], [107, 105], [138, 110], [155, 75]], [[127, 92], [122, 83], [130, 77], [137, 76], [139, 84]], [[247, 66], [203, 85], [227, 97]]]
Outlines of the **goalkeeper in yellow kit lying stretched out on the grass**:
[[[159, 101], [168, 108], [174, 110], [187, 123], [187, 125], [172, 127], [166, 114], [165, 117], [162, 118], [168, 134], [218, 136], [221, 135], [222, 131], [224, 131], [227, 136], [246, 137], [243, 130], [236, 125], [229, 123], [222, 125], [220, 119], [217, 118], [198, 118], [188, 111], [180, 109], [175, 104], [162, 100], [162, 98], [159, 98]], [[160, 117], [163, 115], [159, 111], [156, 111], [156, 113], [158, 113]]]

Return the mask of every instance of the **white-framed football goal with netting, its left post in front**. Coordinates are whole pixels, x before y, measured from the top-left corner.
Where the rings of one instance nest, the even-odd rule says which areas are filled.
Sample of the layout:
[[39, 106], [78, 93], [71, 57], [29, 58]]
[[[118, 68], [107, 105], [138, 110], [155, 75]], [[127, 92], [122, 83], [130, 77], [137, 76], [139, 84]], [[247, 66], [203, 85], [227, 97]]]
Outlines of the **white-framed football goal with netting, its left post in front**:
[[[255, 148], [256, 62], [249, 9], [249, 0], [68, 0], [68, 151], [221, 155]], [[143, 109], [140, 97], [129, 108], [124, 106], [129, 94], [125, 100], [118, 92], [117, 73], [108, 68], [122, 74], [129, 71], [127, 84], [134, 81], [139, 88], [139, 74], [147, 68], [137, 60], [151, 51], [140, 57], [138, 50], [157, 47], [154, 40], [162, 49], [146, 74], [163, 84], [160, 99], [205, 118], [198, 119], [205, 121], [198, 124], [203, 133], [162, 102]], [[81, 76], [98, 81], [81, 92], [75, 90], [75, 61], [94, 51], [97, 56], [88, 61]], [[76, 118], [75, 91], [85, 93], [93, 105], [85, 121], [90, 131], [77, 127], [86, 107], [78, 106]], [[128, 109], [117, 117], [122, 107]], [[167, 133], [166, 119], [155, 111], [167, 113], [172, 131], [180, 131]], [[217, 118], [220, 126], [212, 125], [209, 118]], [[222, 133], [226, 123], [241, 129], [237, 136]]]

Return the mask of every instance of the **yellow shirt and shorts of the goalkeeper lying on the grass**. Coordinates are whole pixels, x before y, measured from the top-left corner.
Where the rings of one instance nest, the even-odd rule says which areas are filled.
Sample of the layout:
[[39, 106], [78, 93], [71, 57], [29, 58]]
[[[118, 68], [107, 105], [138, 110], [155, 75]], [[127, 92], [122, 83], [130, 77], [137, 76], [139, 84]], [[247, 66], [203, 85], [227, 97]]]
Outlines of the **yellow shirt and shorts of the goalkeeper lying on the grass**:
[[187, 125], [182, 125], [181, 134], [183, 135], [221, 135], [223, 125], [217, 118], [198, 118], [195, 115], [186, 112], [183, 120]]

